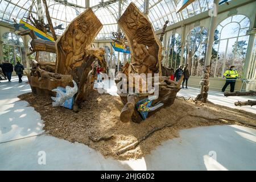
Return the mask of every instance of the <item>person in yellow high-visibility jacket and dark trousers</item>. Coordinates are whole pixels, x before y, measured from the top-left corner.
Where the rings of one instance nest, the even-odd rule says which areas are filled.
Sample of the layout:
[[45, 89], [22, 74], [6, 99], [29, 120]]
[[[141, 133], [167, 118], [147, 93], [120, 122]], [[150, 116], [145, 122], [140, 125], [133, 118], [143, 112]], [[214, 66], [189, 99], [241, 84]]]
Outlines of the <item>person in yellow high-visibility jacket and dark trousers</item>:
[[230, 69], [225, 71], [223, 74], [226, 77], [226, 83], [222, 88], [222, 92], [225, 92], [226, 87], [230, 84], [230, 92], [234, 92], [234, 86], [236, 84], [236, 80], [238, 78], [238, 73], [236, 71], [236, 67], [232, 66]]

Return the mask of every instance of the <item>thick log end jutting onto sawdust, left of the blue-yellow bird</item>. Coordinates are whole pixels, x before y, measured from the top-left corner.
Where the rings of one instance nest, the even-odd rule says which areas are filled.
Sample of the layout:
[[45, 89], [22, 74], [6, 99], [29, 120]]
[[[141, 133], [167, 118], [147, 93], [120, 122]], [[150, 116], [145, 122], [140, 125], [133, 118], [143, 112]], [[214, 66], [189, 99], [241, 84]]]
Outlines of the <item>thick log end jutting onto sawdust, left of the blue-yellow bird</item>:
[[131, 121], [131, 117], [133, 116], [133, 113], [135, 110], [135, 105], [139, 101], [139, 98], [135, 94], [128, 94], [127, 95], [127, 103], [125, 106], [123, 106], [123, 109], [121, 110], [120, 114], [120, 120], [122, 122], [129, 122]]

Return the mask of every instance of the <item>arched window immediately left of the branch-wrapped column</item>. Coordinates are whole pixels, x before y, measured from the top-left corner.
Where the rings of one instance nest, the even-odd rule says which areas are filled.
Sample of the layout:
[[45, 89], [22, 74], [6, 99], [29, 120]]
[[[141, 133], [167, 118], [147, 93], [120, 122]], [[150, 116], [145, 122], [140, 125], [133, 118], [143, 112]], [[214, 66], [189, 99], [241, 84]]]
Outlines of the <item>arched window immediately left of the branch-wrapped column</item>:
[[207, 49], [208, 31], [204, 27], [193, 28], [187, 36], [186, 55], [187, 64], [192, 76], [202, 76], [205, 52]]

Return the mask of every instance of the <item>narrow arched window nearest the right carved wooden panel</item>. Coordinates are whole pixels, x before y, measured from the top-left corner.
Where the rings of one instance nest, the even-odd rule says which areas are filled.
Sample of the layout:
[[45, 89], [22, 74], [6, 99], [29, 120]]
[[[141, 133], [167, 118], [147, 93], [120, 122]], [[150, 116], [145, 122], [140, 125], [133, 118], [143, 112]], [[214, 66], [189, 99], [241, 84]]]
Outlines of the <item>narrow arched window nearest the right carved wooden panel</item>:
[[168, 65], [167, 67], [176, 69], [181, 60], [181, 36], [172, 34], [168, 40]]

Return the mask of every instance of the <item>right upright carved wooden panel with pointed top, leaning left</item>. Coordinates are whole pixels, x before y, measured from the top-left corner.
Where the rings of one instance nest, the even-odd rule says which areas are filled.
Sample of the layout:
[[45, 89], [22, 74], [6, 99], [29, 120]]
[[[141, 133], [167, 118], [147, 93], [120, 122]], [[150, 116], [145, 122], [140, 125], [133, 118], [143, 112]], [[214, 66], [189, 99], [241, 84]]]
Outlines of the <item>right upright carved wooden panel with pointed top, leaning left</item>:
[[159, 73], [162, 57], [162, 44], [154, 33], [151, 23], [130, 3], [125, 13], [118, 20], [125, 32], [131, 50], [131, 63], [138, 73]]

